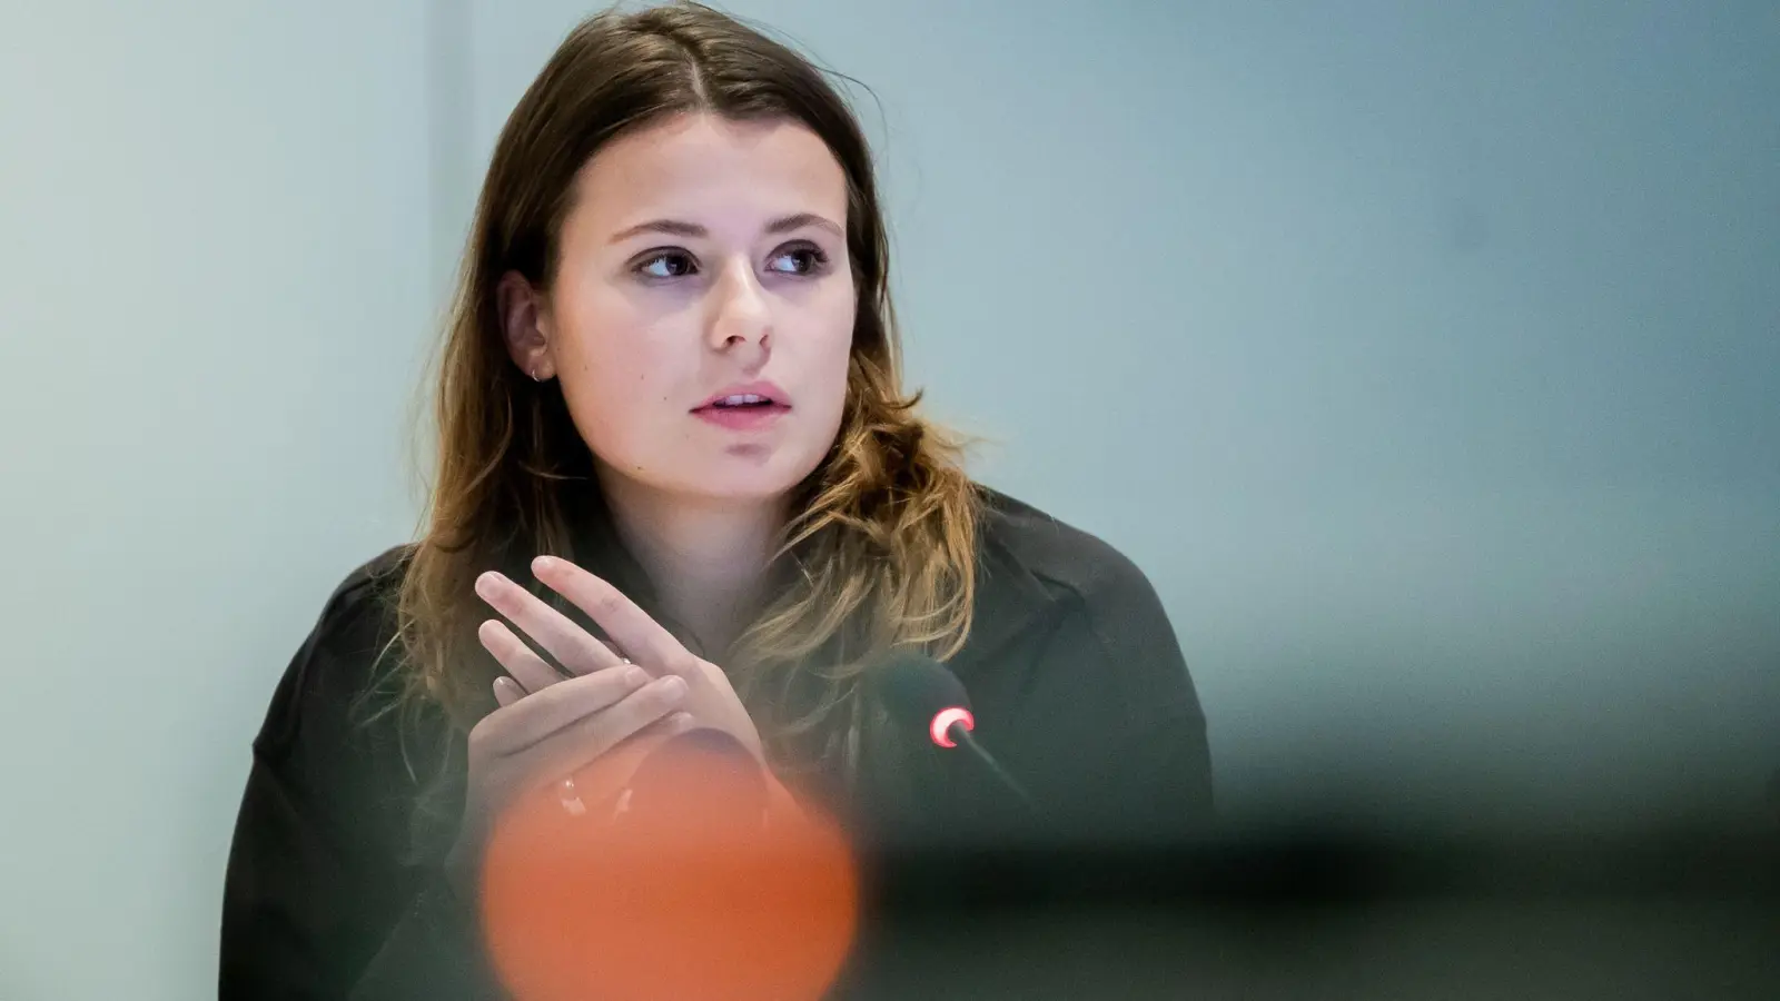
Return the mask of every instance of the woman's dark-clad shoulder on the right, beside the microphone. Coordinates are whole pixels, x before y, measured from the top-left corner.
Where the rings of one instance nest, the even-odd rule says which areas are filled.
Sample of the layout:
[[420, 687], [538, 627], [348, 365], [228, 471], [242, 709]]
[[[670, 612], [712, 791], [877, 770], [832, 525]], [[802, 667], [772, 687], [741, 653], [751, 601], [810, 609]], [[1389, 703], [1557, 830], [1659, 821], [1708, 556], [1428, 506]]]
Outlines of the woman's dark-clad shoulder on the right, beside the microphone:
[[1077, 832], [1152, 839], [1200, 823], [1205, 714], [1150, 579], [1091, 533], [984, 499], [979, 618], [958, 666], [984, 743]]

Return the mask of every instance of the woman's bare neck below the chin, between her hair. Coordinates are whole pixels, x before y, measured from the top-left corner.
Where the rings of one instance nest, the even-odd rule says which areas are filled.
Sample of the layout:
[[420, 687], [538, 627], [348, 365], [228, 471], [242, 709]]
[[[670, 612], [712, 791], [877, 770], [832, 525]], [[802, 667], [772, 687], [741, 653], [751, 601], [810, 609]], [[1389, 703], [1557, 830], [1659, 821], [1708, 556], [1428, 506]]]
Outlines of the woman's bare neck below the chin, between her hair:
[[602, 476], [600, 488], [662, 611], [692, 631], [705, 655], [721, 657], [760, 598], [787, 500], [669, 495], [618, 476]]

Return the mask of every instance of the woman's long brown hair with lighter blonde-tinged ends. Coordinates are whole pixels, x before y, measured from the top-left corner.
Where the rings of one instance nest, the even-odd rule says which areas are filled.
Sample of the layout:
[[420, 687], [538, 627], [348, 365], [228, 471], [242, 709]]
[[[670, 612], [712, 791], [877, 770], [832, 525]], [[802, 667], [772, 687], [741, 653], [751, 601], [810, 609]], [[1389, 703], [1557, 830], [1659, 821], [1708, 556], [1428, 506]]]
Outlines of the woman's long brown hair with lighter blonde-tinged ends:
[[[614, 137], [684, 112], [797, 121], [847, 178], [858, 305], [846, 415], [794, 497], [774, 557], [787, 584], [723, 666], [780, 764], [799, 764], [785, 761], [794, 745], [851, 764], [870, 657], [917, 647], [943, 659], [970, 632], [981, 499], [958, 440], [915, 413], [920, 394], [901, 392], [888, 240], [849, 105], [796, 52], [698, 4], [584, 21], [495, 144], [438, 363], [436, 481], [397, 593], [399, 704], [433, 702], [459, 728], [475, 723], [498, 671], [475, 639], [490, 614], [475, 575], [514, 554], [570, 550], [578, 492], [598, 490], [561, 387], [530, 381], [506, 351], [497, 283], [518, 271], [546, 290], [577, 171]], [[796, 711], [794, 688], [815, 693]], [[803, 743], [810, 736], [821, 739]]]

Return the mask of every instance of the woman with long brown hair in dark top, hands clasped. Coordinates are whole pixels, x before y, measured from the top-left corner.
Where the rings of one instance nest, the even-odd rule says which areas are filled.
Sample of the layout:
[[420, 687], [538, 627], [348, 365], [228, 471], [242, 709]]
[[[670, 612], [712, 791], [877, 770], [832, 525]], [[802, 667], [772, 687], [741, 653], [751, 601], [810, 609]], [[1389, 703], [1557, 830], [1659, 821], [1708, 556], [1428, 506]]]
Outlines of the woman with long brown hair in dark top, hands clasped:
[[[728, 734], [862, 851], [1207, 816], [1153, 590], [961, 472], [886, 276], [865, 139], [801, 57], [691, 4], [562, 43], [482, 187], [425, 533], [340, 584], [255, 741], [226, 997], [493, 990], [490, 818], [644, 732]], [[1031, 807], [886, 727], [890, 650], [958, 673]]]

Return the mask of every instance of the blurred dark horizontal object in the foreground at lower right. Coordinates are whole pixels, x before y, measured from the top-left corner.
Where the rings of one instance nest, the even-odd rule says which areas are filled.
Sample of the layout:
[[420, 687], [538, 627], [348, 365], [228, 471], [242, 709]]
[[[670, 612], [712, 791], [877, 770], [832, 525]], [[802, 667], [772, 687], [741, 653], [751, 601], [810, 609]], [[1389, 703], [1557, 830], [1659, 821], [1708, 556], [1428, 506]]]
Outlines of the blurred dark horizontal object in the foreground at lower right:
[[846, 997], [1780, 997], [1780, 830], [931, 853]]

